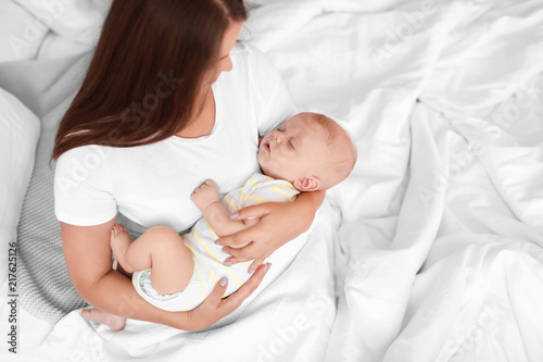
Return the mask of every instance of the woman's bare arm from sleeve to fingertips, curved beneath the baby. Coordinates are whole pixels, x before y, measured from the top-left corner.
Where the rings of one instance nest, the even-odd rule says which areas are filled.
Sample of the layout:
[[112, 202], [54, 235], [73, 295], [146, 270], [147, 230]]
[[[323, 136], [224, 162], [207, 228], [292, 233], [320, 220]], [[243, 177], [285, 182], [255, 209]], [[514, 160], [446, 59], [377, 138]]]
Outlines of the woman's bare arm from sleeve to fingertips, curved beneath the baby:
[[116, 315], [200, 330], [233, 312], [269, 270], [262, 265], [242, 288], [228, 298], [222, 299], [226, 286], [217, 283], [212, 294], [194, 310], [163, 311], [144, 301], [130, 279], [111, 269], [110, 232], [114, 224], [115, 217], [97, 226], [61, 223], [61, 233], [67, 271], [76, 291], [93, 307]]

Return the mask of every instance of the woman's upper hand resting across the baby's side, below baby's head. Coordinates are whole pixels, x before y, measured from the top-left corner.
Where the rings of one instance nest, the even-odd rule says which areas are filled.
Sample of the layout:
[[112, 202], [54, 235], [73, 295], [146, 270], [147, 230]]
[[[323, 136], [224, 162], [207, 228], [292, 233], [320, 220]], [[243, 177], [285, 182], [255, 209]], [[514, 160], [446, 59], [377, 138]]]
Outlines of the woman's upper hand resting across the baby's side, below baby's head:
[[266, 202], [241, 209], [235, 220], [261, 217], [261, 222], [217, 240], [231, 255], [225, 262], [254, 259], [249, 270], [255, 270], [279, 247], [310, 228], [324, 199], [325, 191], [302, 192], [293, 202]]

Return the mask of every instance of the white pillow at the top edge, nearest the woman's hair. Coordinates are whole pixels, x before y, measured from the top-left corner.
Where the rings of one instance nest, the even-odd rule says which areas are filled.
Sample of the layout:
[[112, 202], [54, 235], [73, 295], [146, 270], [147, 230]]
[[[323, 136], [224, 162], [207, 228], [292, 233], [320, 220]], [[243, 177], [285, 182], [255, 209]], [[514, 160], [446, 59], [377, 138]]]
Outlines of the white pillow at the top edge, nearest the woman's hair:
[[104, 21], [104, 0], [14, 0], [54, 33], [71, 40], [96, 43]]

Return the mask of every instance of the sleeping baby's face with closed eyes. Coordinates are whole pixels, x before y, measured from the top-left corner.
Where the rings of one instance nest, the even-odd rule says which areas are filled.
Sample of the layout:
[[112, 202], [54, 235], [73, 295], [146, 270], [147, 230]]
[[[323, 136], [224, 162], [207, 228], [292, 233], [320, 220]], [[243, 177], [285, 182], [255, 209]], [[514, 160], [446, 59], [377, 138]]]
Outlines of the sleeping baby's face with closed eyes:
[[326, 152], [326, 139], [325, 130], [311, 115], [296, 114], [262, 138], [258, 163], [266, 175], [292, 184], [301, 177], [316, 176], [319, 165], [331, 157]]

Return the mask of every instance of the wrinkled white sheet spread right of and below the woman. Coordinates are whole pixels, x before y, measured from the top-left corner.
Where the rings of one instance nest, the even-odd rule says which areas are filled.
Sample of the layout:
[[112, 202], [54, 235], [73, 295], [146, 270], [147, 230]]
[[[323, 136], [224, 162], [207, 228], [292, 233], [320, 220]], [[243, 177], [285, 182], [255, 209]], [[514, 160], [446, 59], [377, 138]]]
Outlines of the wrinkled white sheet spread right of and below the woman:
[[294, 102], [355, 135], [352, 177], [233, 324], [112, 333], [75, 311], [43, 358], [540, 361], [543, 1], [254, 2]]

